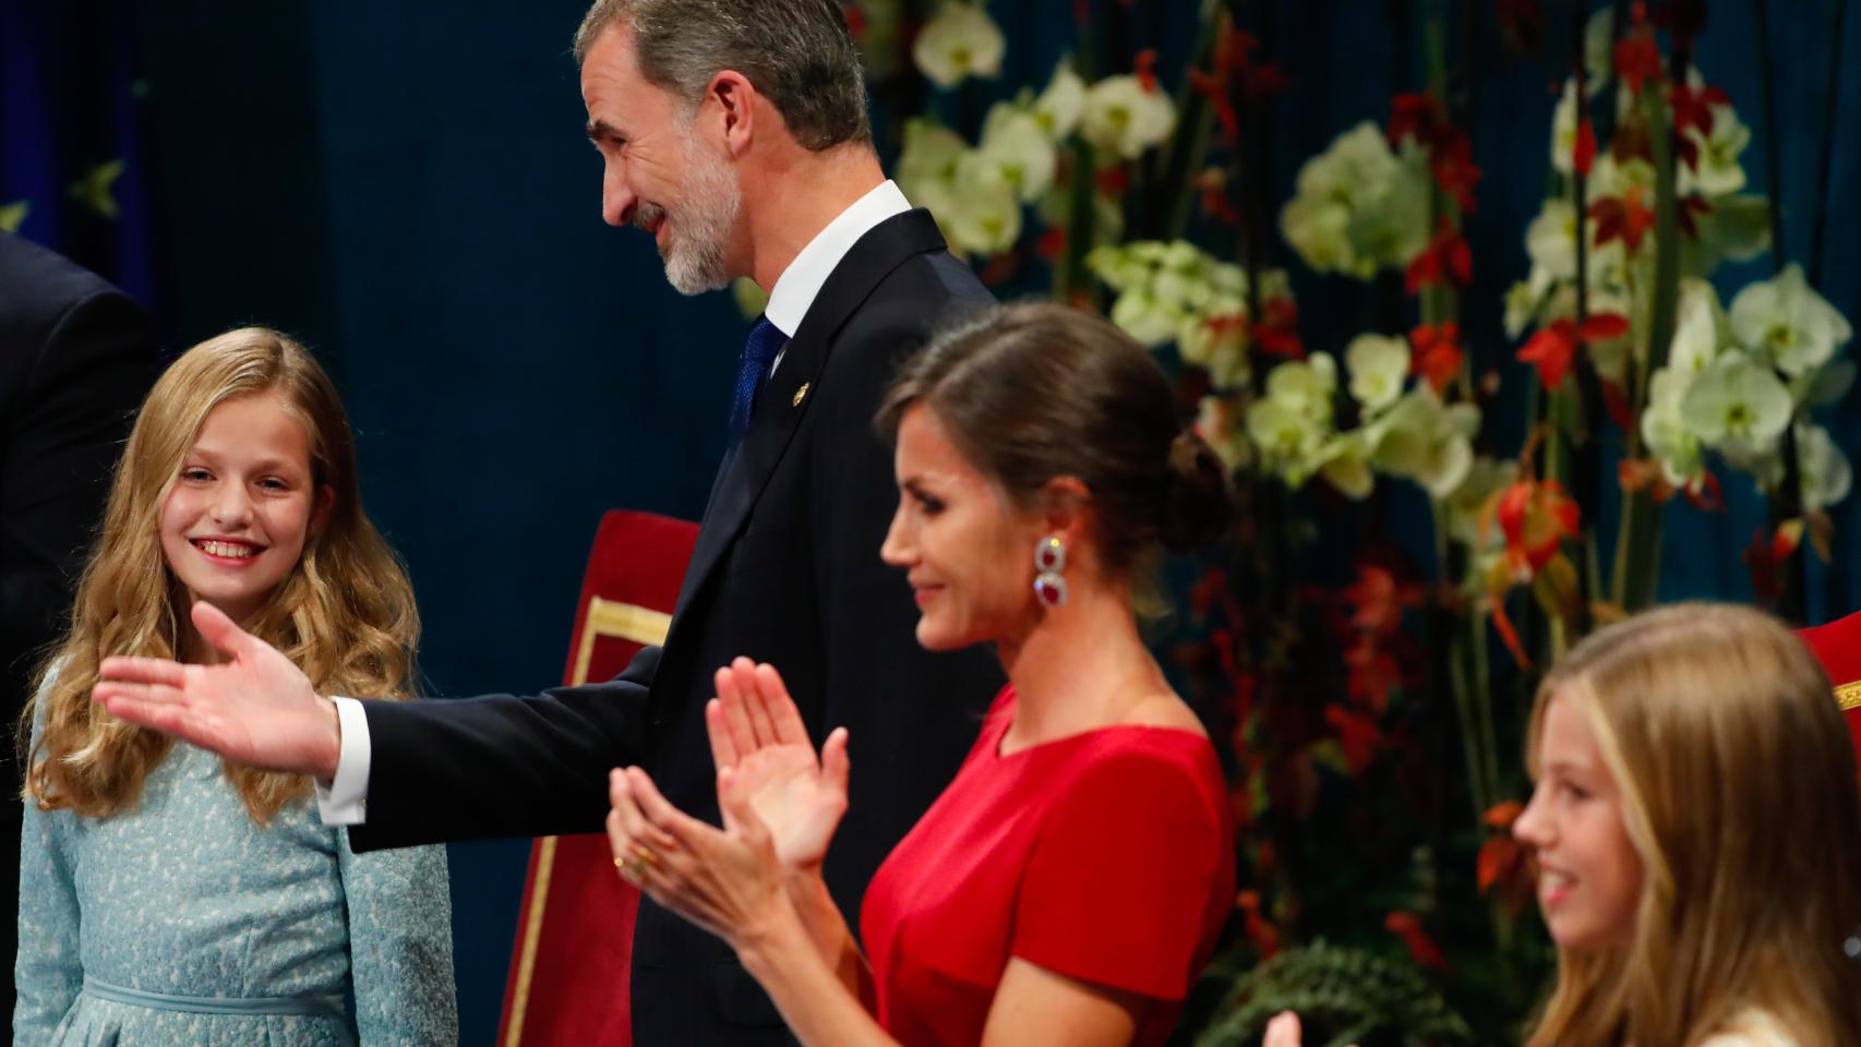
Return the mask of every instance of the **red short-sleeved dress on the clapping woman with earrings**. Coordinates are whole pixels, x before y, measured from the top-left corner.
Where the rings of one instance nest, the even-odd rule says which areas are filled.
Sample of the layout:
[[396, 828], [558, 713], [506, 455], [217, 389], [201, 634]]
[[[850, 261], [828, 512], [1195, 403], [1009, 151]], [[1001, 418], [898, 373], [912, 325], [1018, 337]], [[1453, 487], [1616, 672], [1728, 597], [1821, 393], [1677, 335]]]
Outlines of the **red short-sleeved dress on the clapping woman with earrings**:
[[999, 755], [1003, 688], [957, 779], [878, 867], [862, 930], [878, 1023], [977, 1043], [1011, 956], [1161, 1001], [1161, 1043], [1234, 908], [1226, 787], [1208, 738], [1104, 727]]

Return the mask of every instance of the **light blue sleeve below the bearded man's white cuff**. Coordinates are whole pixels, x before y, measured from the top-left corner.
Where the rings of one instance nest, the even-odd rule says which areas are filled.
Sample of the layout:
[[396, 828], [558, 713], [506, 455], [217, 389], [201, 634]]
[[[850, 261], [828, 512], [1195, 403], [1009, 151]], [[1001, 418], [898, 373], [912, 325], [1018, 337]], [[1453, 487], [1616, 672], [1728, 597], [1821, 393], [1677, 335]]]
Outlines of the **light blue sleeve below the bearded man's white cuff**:
[[361, 1047], [458, 1043], [445, 846], [355, 854], [337, 835]]

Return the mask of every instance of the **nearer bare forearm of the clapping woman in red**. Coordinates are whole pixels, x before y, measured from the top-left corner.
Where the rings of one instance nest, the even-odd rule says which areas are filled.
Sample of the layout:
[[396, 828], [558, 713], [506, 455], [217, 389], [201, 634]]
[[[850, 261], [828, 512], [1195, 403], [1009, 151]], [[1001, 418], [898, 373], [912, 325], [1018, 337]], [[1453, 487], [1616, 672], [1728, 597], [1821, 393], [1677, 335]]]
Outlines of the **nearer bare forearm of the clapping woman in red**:
[[[811, 900], [810, 908], [817, 904]], [[832, 900], [826, 906], [832, 909]], [[735, 943], [743, 967], [763, 986], [789, 1032], [806, 1047], [895, 1047], [897, 1040], [878, 1027], [860, 1002], [858, 989], [847, 986], [834, 961], [823, 954], [798, 909], [783, 908], [763, 928]], [[841, 934], [847, 932], [845, 921], [837, 919], [836, 926]], [[847, 952], [864, 969], [850, 935], [837, 956]]]

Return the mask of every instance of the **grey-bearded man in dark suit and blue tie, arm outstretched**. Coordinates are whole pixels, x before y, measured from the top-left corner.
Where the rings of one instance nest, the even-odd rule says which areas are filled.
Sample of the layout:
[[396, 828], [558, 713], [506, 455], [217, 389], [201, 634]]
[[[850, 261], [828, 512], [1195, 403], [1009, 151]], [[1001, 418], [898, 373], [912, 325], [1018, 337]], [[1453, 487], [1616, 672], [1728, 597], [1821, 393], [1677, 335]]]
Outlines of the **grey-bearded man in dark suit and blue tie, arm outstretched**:
[[[331, 779], [357, 848], [596, 831], [607, 772], [642, 764], [716, 820], [703, 705], [746, 655], [787, 679], [817, 738], [847, 725], [854, 777], [826, 880], [858, 926], [880, 859], [929, 807], [1001, 683], [983, 651], [929, 655], [878, 547], [897, 493], [873, 413], [897, 357], [951, 307], [988, 301], [871, 145], [858, 52], [834, 0], [601, 0], [577, 33], [603, 218], [653, 232], [687, 294], [769, 290], [733, 435], [672, 629], [605, 684], [540, 697], [352, 703], [311, 692], [210, 608], [218, 669], [115, 660], [108, 709], [234, 759]], [[367, 770], [357, 770], [367, 766]], [[365, 794], [361, 809], [357, 796]], [[780, 1043], [731, 952], [646, 904], [638, 1043]]]

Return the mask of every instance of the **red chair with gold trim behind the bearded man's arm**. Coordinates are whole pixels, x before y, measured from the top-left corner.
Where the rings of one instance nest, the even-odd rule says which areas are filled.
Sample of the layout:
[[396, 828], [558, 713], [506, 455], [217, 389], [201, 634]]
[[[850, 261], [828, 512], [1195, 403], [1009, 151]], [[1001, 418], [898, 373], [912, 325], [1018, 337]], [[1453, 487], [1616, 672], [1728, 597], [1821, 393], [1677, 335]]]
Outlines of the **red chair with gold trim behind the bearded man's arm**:
[[[698, 524], [651, 513], [601, 517], [582, 578], [564, 684], [605, 681], [661, 643]], [[614, 874], [601, 833], [530, 846], [523, 913], [504, 984], [501, 1047], [631, 1045], [627, 1006], [640, 895]]]

